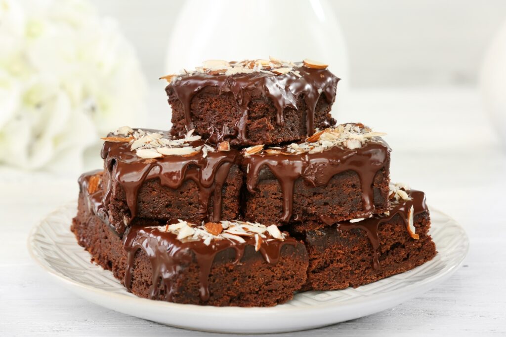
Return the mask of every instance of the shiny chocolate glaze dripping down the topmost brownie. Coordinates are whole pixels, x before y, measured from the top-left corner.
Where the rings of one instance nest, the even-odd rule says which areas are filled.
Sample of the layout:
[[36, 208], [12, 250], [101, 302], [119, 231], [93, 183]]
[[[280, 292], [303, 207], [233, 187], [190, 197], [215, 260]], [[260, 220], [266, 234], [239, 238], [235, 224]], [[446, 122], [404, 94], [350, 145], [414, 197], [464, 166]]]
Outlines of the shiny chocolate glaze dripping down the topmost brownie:
[[[338, 77], [328, 69], [312, 69], [300, 63], [293, 68], [298, 70], [301, 77], [292, 72], [284, 75], [254, 72], [250, 74], [210, 75], [193, 73], [180, 75], [180, 79], [171, 82], [165, 88], [169, 97], [174, 97], [183, 105], [187, 130], [193, 129], [191, 120], [191, 101], [195, 94], [207, 86], [218, 87], [220, 93], [231, 92], [241, 110], [241, 118], [234, 125], [233, 130], [210, 130], [212, 139], [232, 139], [232, 143], [243, 145], [247, 143], [246, 126], [248, 108], [251, 102], [251, 92], [258, 90], [263, 97], [269, 98], [276, 107], [276, 124], [284, 125], [283, 111], [289, 107], [298, 109], [297, 99], [303, 95], [308, 112], [306, 115], [306, 131], [308, 135], [314, 133], [314, 115], [316, 104], [323, 93], [325, 100], [332, 104], [335, 101]], [[235, 139], [234, 139], [235, 138]]]

